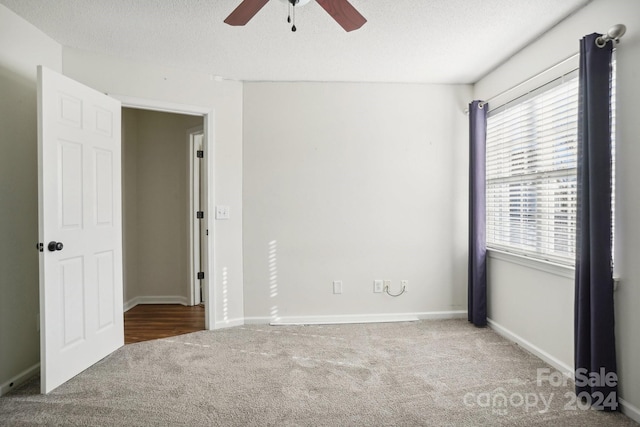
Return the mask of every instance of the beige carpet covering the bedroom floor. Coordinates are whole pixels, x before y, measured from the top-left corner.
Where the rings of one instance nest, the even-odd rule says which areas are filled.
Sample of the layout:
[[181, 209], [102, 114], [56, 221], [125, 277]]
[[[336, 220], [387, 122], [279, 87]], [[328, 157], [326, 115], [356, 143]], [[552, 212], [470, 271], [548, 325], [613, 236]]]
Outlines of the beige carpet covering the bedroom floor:
[[0, 425], [635, 425], [538, 368], [464, 320], [245, 326], [125, 346], [46, 396], [36, 379], [0, 398]]

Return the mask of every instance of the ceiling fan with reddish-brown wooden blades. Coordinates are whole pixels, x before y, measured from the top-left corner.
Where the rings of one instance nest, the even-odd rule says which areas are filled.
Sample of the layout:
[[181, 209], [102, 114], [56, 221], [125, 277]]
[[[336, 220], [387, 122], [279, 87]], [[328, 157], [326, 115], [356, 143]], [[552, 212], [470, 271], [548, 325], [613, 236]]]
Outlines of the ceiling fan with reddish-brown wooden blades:
[[[243, 0], [242, 3], [227, 16], [224, 22], [233, 26], [245, 25], [268, 1], [269, 0]], [[294, 13], [296, 5], [302, 6], [309, 2], [309, 0], [284, 1], [289, 3], [290, 7], [293, 7]], [[348, 0], [316, 0], [316, 2], [322, 6], [345, 31], [357, 30], [367, 22], [364, 16], [362, 16]], [[291, 22], [291, 17], [289, 17], [288, 21]], [[296, 30], [295, 22], [291, 30]]]

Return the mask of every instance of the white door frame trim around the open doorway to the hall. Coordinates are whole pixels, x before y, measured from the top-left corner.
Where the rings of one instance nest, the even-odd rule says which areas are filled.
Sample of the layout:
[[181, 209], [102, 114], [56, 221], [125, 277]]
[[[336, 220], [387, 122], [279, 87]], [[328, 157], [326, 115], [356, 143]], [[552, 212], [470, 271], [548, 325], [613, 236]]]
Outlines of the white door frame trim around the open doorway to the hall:
[[[204, 271], [204, 312], [205, 329], [215, 329], [215, 297], [217, 295], [216, 266], [215, 266], [215, 111], [208, 107], [178, 104], [172, 102], [159, 101], [154, 99], [137, 98], [128, 95], [108, 93], [112, 98], [122, 103], [122, 108], [134, 108], [139, 110], [160, 111], [163, 113], [185, 114], [189, 116], [200, 116], [203, 118], [204, 131], [204, 162], [202, 164], [203, 174], [203, 200], [204, 207], [204, 227], [208, 232], [206, 243], [203, 245], [202, 259], [204, 260], [202, 271]], [[193, 286], [190, 285], [190, 289]]]

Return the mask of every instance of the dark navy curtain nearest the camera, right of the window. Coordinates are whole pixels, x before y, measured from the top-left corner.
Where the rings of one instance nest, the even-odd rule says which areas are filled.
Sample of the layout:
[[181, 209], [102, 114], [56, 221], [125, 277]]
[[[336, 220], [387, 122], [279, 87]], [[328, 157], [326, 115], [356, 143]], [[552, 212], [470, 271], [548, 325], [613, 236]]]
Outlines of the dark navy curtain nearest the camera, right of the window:
[[[616, 410], [617, 367], [611, 254], [612, 42], [580, 41], [578, 217], [576, 241], [576, 393], [602, 410]], [[587, 378], [597, 381], [586, 381]]]

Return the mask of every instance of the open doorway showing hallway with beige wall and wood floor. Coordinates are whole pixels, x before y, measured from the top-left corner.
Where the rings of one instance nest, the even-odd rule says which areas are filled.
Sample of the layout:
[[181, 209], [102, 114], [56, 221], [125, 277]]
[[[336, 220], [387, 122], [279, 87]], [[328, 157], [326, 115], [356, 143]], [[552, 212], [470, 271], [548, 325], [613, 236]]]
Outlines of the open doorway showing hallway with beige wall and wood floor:
[[[167, 325], [161, 326], [167, 310], [173, 313], [169, 317], [200, 316], [194, 324], [205, 328], [205, 308], [188, 310], [205, 300], [199, 288], [196, 298], [194, 284], [194, 277], [198, 284], [204, 282], [205, 271], [200, 241], [204, 207], [199, 203], [206, 187], [199, 173], [204, 156], [191, 158], [193, 141], [204, 143], [203, 121], [197, 115], [122, 108], [125, 336], [135, 323], [126, 319], [138, 312], [147, 325], [158, 325], [158, 338], [170, 336]], [[149, 321], [153, 316], [159, 323]], [[179, 333], [186, 332], [177, 328]], [[153, 337], [152, 328], [145, 334]]]

